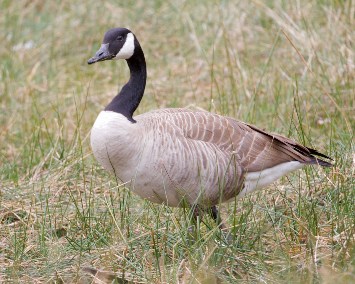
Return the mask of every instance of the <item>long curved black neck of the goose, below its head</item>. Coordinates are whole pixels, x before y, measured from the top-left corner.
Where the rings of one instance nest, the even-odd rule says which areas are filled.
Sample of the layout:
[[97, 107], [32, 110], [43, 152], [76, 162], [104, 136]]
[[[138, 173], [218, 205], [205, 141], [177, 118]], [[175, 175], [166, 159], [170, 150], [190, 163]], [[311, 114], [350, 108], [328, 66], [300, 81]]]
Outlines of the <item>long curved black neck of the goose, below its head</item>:
[[147, 79], [146, 60], [139, 44], [135, 46], [132, 57], [126, 59], [126, 61], [131, 72], [130, 80], [122, 87], [121, 92], [114, 97], [105, 110], [121, 113], [129, 121], [135, 123], [136, 121], [132, 116], [141, 102]]

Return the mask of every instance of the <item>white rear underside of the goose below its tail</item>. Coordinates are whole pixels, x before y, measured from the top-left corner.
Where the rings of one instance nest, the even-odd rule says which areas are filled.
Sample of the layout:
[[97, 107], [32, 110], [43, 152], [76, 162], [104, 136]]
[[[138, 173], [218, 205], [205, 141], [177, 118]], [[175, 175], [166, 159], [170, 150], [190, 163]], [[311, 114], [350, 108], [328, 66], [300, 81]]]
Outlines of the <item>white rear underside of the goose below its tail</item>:
[[237, 198], [242, 198], [247, 194], [259, 190], [282, 176], [297, 170], [304, 166], [304, 163], [293, 161], [286, 162], [262, 171], [254, 171], [245, 175], [244, 188], [240, 191]]

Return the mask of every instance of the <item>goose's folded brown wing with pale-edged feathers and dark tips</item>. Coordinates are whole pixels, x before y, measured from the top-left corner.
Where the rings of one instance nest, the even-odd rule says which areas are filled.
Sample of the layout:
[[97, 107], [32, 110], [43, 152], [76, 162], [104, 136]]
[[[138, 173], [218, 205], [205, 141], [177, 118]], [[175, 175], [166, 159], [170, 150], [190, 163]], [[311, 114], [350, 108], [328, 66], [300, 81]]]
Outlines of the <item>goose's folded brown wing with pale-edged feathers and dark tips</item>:
[[213, 143], [220, 149], [234, 152], [245, 171], [260, 171], [290, 161], [332, 165], [313, 157], [312, 154], [328, 158], [316, 150], [229, 117], [188, 109], [163, 111], [171, 112], [171, 118], [185, 137]]

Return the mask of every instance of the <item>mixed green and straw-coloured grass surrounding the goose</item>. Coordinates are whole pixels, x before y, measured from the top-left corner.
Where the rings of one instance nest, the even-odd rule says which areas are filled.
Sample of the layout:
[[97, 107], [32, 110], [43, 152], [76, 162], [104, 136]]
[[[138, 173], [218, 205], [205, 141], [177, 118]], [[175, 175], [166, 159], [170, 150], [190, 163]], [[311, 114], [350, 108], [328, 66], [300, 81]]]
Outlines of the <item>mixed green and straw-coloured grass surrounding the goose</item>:
[[[110, 282], [85, 267], [133, 283], [353, 283], [354, 1], [0, 6], [1, 283]], [[221, 206], [235, 244], [204, 218], [187, 245], [188, 210], [131, 195], [91, 153], [91, 125], [129, 70], [86, 62], [117, 26], [146, 55], [137, 114], [223, 113], [319, 149], [336, 167], [308, 166]]]

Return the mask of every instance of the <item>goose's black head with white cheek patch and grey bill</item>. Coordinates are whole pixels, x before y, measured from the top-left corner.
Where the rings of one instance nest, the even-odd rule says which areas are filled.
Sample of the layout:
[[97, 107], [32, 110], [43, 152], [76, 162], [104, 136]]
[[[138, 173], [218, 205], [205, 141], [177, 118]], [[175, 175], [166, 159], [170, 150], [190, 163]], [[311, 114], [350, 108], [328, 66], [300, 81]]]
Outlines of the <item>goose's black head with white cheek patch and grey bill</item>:
[[136, 42], [136, 37], [129, 29], [110, 29], [105, 33], [100, 49], [88, 60], [88, 64], [108, 59], [129, 59], [135, 51]]

